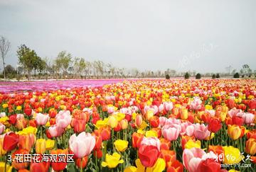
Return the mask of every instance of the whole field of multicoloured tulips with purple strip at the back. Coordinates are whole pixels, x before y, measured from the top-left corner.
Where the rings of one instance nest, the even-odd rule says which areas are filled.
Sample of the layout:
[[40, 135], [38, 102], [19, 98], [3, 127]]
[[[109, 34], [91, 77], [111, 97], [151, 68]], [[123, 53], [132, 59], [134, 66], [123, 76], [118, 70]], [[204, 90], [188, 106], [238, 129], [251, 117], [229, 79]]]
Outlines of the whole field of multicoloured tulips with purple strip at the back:
[[0, 83], [0, 171], [256, 171], [255, 79]]

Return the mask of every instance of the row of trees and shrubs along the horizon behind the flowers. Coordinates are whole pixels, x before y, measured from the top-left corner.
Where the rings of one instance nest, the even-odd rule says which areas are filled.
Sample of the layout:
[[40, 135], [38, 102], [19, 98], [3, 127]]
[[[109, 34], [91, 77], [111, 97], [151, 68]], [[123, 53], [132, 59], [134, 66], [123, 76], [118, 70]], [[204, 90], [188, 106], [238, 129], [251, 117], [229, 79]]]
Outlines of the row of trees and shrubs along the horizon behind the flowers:
[[[87, 61], [83, 57], [73, 57], [69, 52], [61, 51], [55, 59], [48, 57], [39, 57], [35, 50], [26, 45], [18, 47], [17, 57], [18, 66], [16, 69], [11, 65], [5, 64], [5, 58], [9, 52], [11, 43], [4, 37], [0, 37], [0, 55], [3, 64], [2, 78], [16, 79], [101, 79], [101, 78], [164, 78], [183, 77], [184, 75], [196, 76], [196, 71], [177, 72], [174, 69], [166, 69], [165, 71], [140, 71], [139, 69], [125, 69], [114, 67], [111, 63], [105, 63], [101, 60], [93, 62]], [[227, 67], [228, 73], [219, 73], [220, 76], [233, 76], [235, 69], [231, 72], [232, 67]], [[254, 71], [256, 73], [256, 71]], [[218, 75], [219, 75], [218, 74]], [[249, 65], [244, 64], [240, 70], [240, 74], [253, 74]], [[213, 73], [201, 74], [205, 77], [215, 77]], [[200, 77], [201, 77], [200, 76]], [[0, 76], [1, 78], [1, 76]]]

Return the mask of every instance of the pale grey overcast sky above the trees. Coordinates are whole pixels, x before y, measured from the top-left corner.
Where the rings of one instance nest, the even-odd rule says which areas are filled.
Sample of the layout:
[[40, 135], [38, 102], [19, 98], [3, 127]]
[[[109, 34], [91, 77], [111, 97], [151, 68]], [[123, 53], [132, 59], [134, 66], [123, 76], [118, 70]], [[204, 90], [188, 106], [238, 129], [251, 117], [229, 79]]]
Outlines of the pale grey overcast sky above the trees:
[[25, 44], [40, 57], [66, 50], [142, 71], [255, 70], [255, 7], [255, 0], [0, 0], [0, 35], [11, 42], [6, 64], [14, 67]]

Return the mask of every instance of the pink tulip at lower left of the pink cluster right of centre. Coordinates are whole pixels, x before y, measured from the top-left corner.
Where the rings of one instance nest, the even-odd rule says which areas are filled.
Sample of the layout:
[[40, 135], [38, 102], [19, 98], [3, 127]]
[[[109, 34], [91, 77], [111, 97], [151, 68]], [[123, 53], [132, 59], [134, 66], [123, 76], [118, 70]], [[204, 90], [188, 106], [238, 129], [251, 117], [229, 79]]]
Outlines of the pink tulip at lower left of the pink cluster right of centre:
[[176, 140], [178, 138], [178, 134], [181, 132], [180, 125], [164, 125], [161, 130], [164, 138], [168, 139], [169, 141]]

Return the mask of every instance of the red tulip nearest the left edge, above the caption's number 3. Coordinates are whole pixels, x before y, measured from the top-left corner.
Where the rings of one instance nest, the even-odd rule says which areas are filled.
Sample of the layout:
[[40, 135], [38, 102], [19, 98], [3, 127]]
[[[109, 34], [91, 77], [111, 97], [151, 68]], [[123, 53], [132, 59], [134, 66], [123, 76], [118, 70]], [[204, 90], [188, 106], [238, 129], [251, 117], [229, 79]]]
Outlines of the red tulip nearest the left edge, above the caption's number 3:
[[19, 136], [14, 132], [9, 132], [4, 135], [3, 149], [5, 151], [12, 151], [18, 144]]

